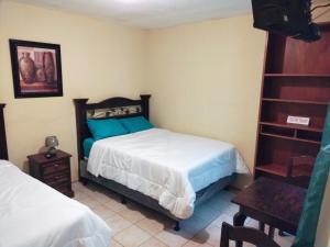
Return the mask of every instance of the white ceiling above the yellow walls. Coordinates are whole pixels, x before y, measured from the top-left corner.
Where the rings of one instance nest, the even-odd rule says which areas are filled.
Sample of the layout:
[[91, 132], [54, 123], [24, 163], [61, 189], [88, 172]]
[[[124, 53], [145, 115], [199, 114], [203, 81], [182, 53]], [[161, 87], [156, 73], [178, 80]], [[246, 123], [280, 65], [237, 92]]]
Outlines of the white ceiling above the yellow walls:
[[251, 0], [14, 0], [157, 29], [251, 11]]

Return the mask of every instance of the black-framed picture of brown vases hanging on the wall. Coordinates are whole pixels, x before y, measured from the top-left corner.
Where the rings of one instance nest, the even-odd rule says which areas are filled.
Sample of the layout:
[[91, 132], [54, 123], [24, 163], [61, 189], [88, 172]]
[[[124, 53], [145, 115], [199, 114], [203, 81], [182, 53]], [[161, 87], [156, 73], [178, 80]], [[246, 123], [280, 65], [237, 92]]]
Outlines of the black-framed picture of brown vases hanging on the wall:
[[15, 98], [62, 97], [61, 46], [9, 40]]

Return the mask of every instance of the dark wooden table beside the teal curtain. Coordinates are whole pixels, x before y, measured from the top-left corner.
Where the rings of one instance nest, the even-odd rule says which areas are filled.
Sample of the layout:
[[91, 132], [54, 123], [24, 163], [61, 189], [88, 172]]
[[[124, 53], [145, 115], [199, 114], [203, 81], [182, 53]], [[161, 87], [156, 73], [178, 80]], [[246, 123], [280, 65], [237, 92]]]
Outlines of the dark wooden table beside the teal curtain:
[[[268, 178], [258, 178], [254, 183], [240, 192], [232, 200], [240, 206], [234, 215], [234, 226], [243, 226], [246, 217], [258, 221], [261, 228], [264, 224], [295, 235], [302, 211], [307, 190]], [[242, 246], [237, 243], [237, 246]]]

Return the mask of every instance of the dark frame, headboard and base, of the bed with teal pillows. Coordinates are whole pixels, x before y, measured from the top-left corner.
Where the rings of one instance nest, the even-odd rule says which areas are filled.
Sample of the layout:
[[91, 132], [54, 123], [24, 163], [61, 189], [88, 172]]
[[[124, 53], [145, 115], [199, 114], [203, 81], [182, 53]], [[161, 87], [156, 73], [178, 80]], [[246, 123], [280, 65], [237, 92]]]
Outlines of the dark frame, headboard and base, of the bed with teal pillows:
[[[84, 157], [84, 139], [91, 137], [91, 133], [87, 126], [88, 119], [116, 119], [130, 116], [144, 116], [148, 120], [150, 110], [150, 94], [141, 94], [139, 100], [128, 98], [110, 98], [99, 103], [87, 103], [88, 99], [74, 99], [76, 108], [76, 124], [77, 124], [77, 146], [79, 158], [79, 181], [84, 184], [88, 182], [97, 183], [101, 187], [110, 189], [122, 197], [122, 203], [127, 199], [135, 201], [144, 206], [155, 210], [175, 221], [175, 231], [179, 231], [179, 221], [169, 211], [162, 207], [158, 202], [143, 193], [131, 190], [113, 180], [105, 179], [102, 177], [95, 177], [87, 171], [87, 160]], [[234, 179], [234, 176], [229, 176], [212, 183], [208, 188], [196, 193], [195, 205], [208, 200], [216, 192], [229, 186]]]

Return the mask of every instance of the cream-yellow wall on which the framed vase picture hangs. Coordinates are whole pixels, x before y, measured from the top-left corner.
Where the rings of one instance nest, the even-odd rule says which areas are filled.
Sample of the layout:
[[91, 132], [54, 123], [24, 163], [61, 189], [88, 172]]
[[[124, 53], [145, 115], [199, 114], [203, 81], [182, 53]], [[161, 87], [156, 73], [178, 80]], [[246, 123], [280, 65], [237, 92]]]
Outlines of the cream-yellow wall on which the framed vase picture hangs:
[[[74, 98], [139, 97], [144, 81], [145, 31], [42, 8], [0, 3], [0, 102], [7, 103], [10, 159], [26, 169], [47, 135], [74, 155], [77, 179]], [[14, 99], [9, 38], [61, 44], [64, 97]]]

